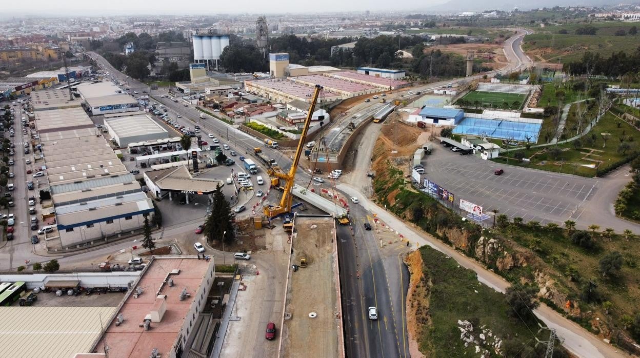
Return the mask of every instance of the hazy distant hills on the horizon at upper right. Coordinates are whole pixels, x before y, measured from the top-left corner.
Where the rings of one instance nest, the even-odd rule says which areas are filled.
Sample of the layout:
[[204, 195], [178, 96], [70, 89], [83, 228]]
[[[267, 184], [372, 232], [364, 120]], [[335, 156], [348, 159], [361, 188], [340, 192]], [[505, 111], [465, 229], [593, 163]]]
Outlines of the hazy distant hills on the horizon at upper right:
[[620, 0], [498, 0], [486, 3], [477, 0], [449, 0], [443, 4], [430, 6], [429, 10], [442, 12], [482, 12], [490, 9], [508, 11], [513, 10], [513, 8], [518, 8], [520, 10], [531, 10], [533, 8], [552, 8], [554, 6], [603, 6], [619, 3]]

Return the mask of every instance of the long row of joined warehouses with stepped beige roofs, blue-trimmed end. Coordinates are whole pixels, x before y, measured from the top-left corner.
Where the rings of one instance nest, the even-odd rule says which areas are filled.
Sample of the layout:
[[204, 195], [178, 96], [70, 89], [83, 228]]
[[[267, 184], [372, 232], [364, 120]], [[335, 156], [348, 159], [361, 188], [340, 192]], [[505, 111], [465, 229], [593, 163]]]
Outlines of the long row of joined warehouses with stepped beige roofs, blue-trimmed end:
[[[151, 200], [80, 108], [81, 101], [69, 101], [63, 96], [67, 90], [51, 91], [57, 94], [38, 94], [39, 103], [33, 104], [42, 159], [35, 157], [33, 165], [38, 168], [32, 170], [46, 168], [42, 169], [46, 180], [36, 180], [42, 218], [57, 227], [45, 233], [47, 248], [72, 247], [140, 229], [143, 216], [154, 211]], [[47, 101], [42, 101], [44, 97]], [[56, 109], [60, 107], [65, 108]]]

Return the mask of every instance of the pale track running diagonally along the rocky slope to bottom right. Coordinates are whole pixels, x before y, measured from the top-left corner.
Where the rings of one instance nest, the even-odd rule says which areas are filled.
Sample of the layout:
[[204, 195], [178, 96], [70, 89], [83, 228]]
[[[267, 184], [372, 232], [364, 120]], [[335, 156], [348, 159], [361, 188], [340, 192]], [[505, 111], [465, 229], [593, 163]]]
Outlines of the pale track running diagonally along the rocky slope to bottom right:
[[[339, 184], [338, 189], [349, 196], [358, 196], [359, 194], [357, 190], [346, 184]], [[371, 213], [376, 214], [380, 220], [386, 222], [387, 225], [399, 232], [399, 234], [410, 238], [412, 248], [419, 248], [422, 245], [429, 245], [435, 248], [455, 259], [460, 266], [474, 270], [474, 272], [477, 273], [479, 282], [483, 282], [496, 291], [504, 293], [510, 286], [509, 282], [505, 281], [497, 275], [497, 273], [487, 270], [482, 264], [477, 263], [477, 261], [470, 257], [464, 256], [449, 245], [433, 238], [433, 236], [428, 233], [420, 231], [420, 229], [415, 229], [415, 225], [404, 223], [396, 216], [377, 206], [374, 202], [371, 202], [368, 198], [363, 197], [360, 199], [360, 205]], [[627, 357], [626, 354], [621, 354], [616, 348], [600, 341], [600, 339], [584, 330], [577, 325], [577, 323], [564, 318], [561, 314], [553, 311], [545, 304], [541, 304], [538, 309], [534, 310], [534, 313], [536, 313], [546, 325], [557, 329], [557, 333], [565, 339], [564, 346], [575, 355], [590, 358]]]

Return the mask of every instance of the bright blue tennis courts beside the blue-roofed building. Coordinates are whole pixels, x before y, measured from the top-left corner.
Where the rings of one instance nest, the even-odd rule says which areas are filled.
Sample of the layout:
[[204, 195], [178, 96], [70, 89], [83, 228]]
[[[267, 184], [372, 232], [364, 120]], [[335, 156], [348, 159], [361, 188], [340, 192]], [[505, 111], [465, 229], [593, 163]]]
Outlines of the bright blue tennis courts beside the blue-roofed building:
[[536, 143], [542, 123], [514, 122], [506, 119], [487, 118], [464, 118], [458, 126], [453, 129], [455, 134], [469, 134], [473, 136], [487, 136], [489, 138], [500, 138], [518, 140], [520, 142]]

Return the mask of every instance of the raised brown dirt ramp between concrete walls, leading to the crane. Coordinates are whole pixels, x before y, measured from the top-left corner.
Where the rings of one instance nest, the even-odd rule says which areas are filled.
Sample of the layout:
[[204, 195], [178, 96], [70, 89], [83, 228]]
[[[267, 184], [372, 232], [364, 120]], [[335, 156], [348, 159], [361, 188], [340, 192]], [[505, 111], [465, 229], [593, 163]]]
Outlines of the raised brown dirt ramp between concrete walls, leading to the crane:
[[344, 354], [335, 220], [296, 215], [280, 336], [284, 357]]

